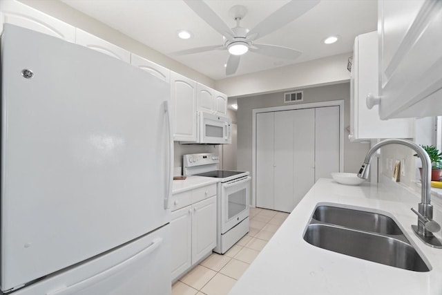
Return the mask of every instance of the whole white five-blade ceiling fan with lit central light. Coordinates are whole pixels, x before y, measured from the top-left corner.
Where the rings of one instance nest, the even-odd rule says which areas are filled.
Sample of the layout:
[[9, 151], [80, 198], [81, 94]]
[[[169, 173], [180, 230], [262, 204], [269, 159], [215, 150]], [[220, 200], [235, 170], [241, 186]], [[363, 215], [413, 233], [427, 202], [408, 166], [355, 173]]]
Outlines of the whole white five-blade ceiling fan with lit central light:
[[233, 11], [233, 15], [235, 16], [236, 27], [229, 28], [229, 26], [227, 26], [227, 24], [224, 23], [224, 21], [222, 21], [222, 19], [220, 19], [220, 17], [218, 17], [218, 15], [203, 1], [184, 0], [184, 2], [199, 17], [206, 21], [209, 26], [222, 35], [224, 44], [191, 48], [177, 51], [174, 54], [189, 55], [193, 53], [202, 53], [204, 51], [227, 49], [229, 50], [230, 55], [227, 60], [226, 75], [233, 75], [238, 69], [241, 55], [247, 53], [247, 51], [283, 59], [298, 58], [302, 54], [302, 52], [298, 50], [276, 45], [257, 44], [255, 43], [255, 40], [269, 35], [271, 32], [278, 30], [278, 28], [294, 21], [305, 12], [311, 10], [311, 8], [314, 8], [320, 0], [291, 0], [289, 3], [285, 4], [285, 6], [282, 6], [269, 15], [269, 17], [258, 23], [258, 25], [251, 30], [240, 26], [240, 21], [244, 18], [247, 12], [244, 6], [233, 6], [233, 8], [231, 8], [231, 11]]

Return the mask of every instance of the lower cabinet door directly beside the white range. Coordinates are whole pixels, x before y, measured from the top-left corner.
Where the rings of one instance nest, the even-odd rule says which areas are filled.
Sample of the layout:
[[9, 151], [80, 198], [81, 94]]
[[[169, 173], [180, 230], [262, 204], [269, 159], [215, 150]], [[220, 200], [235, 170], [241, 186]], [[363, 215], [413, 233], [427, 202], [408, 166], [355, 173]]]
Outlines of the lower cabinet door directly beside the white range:
[[192, 205], [192, 264], [216, 246], [216, 196]]

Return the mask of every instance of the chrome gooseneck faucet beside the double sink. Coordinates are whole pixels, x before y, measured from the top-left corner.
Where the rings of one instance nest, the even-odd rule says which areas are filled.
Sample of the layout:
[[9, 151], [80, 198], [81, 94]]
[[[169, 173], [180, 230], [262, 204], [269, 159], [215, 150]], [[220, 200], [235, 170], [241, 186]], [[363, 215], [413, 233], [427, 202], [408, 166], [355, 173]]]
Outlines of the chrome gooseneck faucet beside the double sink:
[[417, 225], [412, 225], [412, 229], [416, 236], [418, 236], [425, 244], [435, 247], [442, 248], [442, 243], [434, 236], [434, 232], [440, 231], [441, 227], [439, 224], [432, 220], [433, 218], [433, 206], [430, 204], [431, 197], [431, 160], [427, 152], [421, 148], [421, 146], [410, 142], [410, 140], [398, 140], [390, 139], [378, 142], [367, 152], [365, 156], [364, 164], [359, 170], [358, 177], [367, 179], [369, 175], [370, 163], [374, 153], [387, 144], [402, 144], [413, 149], [419, 158], [422, 160], [422, 191], [421, 191], [421, 202], [418, 204], [418, 211], [412, 208], [412, 211], [418, 216]]

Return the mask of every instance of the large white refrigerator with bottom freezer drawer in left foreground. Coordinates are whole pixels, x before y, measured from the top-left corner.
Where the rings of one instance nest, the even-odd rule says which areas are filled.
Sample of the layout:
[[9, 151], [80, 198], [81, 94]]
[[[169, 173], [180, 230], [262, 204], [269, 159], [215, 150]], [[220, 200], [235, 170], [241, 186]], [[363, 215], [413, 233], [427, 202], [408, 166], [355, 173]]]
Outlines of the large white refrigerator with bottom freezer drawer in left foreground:
[[6, 24], [1, 291], [171, 293], [169, 84]]

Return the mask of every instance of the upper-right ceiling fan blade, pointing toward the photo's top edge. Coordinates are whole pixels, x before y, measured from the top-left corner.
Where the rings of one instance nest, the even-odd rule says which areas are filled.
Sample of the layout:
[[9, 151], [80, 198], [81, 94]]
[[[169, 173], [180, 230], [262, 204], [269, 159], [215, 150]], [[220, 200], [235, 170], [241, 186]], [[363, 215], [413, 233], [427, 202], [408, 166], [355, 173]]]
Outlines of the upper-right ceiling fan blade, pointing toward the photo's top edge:
[[294, 21], [301, 15], [305, 14], [305, 12], [311, 10], [311, 8], [314, 8], [319, 2], [320, 0], [291, 0], [289, 3], [285, 4], [285, 6], [282, 6], [269, 15], [267, 19], [258, 23], [258, 25], [251, 29], [247, 35], [257, 33], [258, 37], [256, 37], [256, 39], [264, 37], [274, 30], [278, 30], [278, 28], [287, 25], [287, 23]]

